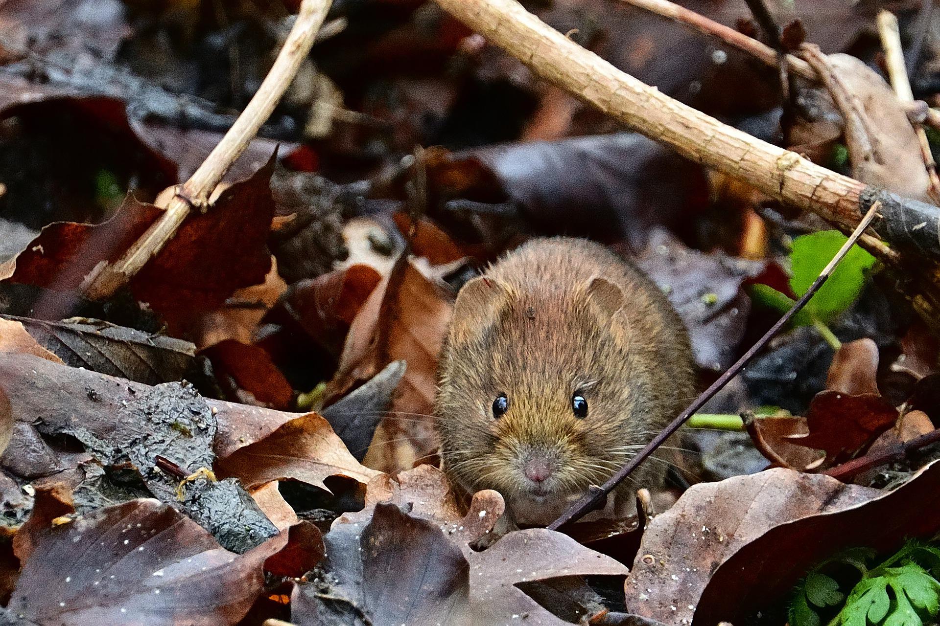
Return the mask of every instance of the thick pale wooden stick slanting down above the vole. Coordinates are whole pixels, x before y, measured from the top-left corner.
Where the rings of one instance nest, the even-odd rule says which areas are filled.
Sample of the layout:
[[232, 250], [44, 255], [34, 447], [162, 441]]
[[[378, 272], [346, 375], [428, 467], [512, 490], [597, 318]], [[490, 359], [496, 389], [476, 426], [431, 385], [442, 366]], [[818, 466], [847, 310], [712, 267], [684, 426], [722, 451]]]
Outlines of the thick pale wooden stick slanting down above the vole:
[[[722, 124], [636, 80], [558, 33], [515, 0], [436, 0], [542, 78], [682, 156], [736, 176], [851, 230], [867, 186]], [[863, 206], [864, 205], [864, 206]]]

